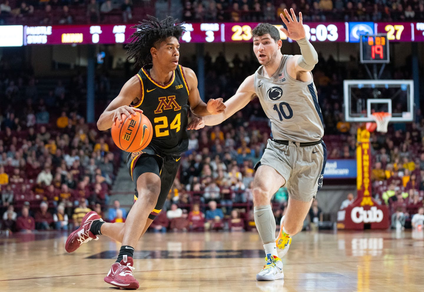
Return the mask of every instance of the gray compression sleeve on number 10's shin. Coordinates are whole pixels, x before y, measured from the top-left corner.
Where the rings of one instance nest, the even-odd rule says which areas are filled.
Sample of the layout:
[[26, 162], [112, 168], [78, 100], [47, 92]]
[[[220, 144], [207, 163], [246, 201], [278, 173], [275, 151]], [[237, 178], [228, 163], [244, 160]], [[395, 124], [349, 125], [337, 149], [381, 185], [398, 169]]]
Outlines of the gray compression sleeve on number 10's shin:
[[276, 222], [271, 205], [255, 206], [253, 214], [262, 243], [275, 242]]

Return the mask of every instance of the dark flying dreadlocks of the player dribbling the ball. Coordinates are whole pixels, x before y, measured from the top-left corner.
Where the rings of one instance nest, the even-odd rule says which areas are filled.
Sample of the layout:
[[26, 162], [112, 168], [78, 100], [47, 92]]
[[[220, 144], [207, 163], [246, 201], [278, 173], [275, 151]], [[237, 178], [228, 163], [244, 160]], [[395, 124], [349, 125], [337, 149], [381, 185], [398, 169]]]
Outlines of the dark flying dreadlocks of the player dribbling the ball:
[[177, 19], [168, 16], [159, 21], [156, 17], [148, 15], [148, 19], [143, 19], [139, 24], [131, 28], [136, 31], [130, 36], [131, 42], [126, 45], [127, 60], [135, 59], [134, 67], [142, 67], [152, 63], [151, 47], [158, 46], [170, 36], [175, 36], [180, 40], [185, 31], [183, 24], [176, 24]]

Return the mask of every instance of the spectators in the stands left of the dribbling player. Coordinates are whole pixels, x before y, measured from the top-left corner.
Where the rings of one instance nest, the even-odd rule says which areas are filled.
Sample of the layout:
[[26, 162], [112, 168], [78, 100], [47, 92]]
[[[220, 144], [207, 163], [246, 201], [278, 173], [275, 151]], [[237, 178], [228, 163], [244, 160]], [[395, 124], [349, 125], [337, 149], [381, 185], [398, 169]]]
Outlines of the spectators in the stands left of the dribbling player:
[[[110, 135], [87, 124], [79, 114], [85, 110], [82, 74], [71, 78], [68, 86], [58, 81], [44, 96], [31, 68], [17, 59], [3, 56], [0, 60], [3, 228], [78, 226], [88, 210], [101, 212], [108, 204], [120, 152]], [[103, 90], [100, 83], [98, 91]]]

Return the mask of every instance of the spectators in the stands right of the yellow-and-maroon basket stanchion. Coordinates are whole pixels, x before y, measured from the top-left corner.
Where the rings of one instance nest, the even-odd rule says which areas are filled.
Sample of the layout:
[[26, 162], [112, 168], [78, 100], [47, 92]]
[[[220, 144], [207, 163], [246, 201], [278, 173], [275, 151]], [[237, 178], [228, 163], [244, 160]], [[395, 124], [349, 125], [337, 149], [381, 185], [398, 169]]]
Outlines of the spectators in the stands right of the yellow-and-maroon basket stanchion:
[[374, 197], [389, 206], [392, 227], [409, 223], [424, 197], [424, 124], [413, 123], [407, 131], [389, 136], [372, 135]]

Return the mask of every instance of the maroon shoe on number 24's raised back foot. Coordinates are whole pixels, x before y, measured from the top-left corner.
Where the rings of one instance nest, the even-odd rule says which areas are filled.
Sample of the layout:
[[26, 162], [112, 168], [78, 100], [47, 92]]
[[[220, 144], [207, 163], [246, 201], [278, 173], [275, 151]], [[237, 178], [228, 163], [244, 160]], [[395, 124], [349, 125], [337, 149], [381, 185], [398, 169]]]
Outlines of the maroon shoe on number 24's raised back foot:
[[72, 253], [83, 243], [89, 242], [92, 239], [99, 239], [97, 235], [92, 234], [90, 231], [91, 224], [95, 220], [103, 221], [103, 219], [100, 218], [100, 216], [94, 211], [88, 212], [84, 218], [82, 218], [81, 226], [77, 230], [73, 231], [66, 240], [65, 249], [68, 253]]

